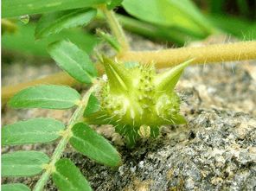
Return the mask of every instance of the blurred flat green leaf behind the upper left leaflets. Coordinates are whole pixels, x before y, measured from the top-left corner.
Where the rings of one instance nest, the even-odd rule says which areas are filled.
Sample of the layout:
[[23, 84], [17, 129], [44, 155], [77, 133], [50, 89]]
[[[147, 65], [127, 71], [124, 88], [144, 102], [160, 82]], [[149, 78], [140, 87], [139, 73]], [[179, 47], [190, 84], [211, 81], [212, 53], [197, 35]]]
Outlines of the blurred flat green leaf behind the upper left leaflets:
[[14, 34], [5, 33], [2, 35], [2, 48], [19, 54], [29, 54], [42, 57], [50, 57], [47, 52], [49, 43], [68, 39], [75, 43], [79, 48], [90, 54], [98, 38], [82, 29], [64, 29], [59, 34], [50, 35], [41, 41], [35, 41], [35, 24], [17, 24], [17, 30]]

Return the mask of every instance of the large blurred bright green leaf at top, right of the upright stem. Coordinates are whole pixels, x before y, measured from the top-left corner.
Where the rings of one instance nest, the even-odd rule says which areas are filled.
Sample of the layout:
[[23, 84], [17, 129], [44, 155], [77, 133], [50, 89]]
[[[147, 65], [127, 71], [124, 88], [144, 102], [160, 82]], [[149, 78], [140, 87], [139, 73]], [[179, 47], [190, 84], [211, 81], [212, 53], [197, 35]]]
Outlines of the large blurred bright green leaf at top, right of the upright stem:
[[131, 16], [146, 22], [176, 26], [198, 35], [209, 35], [214, 31], [210, 22], [189, 0], [125, 0], [122, 4]]

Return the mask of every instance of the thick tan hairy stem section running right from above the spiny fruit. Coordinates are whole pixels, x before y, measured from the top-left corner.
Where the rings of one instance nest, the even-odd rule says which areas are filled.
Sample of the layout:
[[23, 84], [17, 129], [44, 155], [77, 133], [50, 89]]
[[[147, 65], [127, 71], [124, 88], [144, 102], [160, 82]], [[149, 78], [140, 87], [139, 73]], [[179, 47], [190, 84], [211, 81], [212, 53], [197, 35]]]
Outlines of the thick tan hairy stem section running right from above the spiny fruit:
[[171, 48], [158, 51], [128, 51], [118, 57], [123, 61], [156, 63], [157, 67], [172, 67], [186, 60], [193, 64], [208, 64], [223, 61], [255, 60], [256, 41], [240, 41], [230, 44], [215, 44], [195, 48]]

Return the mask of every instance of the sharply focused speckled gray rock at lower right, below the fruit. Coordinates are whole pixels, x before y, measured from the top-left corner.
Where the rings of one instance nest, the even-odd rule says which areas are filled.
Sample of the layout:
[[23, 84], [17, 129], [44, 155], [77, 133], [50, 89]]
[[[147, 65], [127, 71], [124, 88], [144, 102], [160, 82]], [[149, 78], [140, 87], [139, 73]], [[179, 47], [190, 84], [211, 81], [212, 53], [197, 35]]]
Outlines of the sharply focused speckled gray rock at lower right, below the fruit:
[[[66, 156], [83, 169], [94, 190], [255, 190], [256, 148], [247, 140], [253, 140], [256, 121], [234, 111], [195, 112], [187, 126], [173, 130], [175, 144], [170, 131], [133, 150], [119, 147], [124, 163], [118, 169], [74, 152]], [[237, 121], [248, 124], [243, 138]]]

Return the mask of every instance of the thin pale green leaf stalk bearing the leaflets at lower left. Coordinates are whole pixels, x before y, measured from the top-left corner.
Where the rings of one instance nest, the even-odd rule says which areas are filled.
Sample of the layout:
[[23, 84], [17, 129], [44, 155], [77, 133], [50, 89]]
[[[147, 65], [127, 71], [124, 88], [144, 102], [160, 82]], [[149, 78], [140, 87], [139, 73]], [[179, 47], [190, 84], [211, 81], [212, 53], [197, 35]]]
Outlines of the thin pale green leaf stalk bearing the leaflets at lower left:
[[53, 173], [53, 169], [51, 167], [54, 167], [55, 162], [57, 162], [60, 158], [61, 155], [63, 153], [63, 151], [65, 150], [67, 143], [69, 141], [69, 138], [72, 136], [72, 132], [71, 129], [74, 126], [74, 124], [76, 124], [80, 118], [83, 116], [83, 112], [86, 108], [87, 105], [87, 101], [89, 99], [89, 96], [91, 94], [91, 92], [93, 92], [95, 86], [92, 86], [84, 95], [83, 99], [81, 100], [81, 104], [79, 105], [79, 107], [74, 111], [73, 116], [70, 118], [68, 124], [67, 124], [67, 129], [66, 129], [66, 133], [63, 134], [64, 136], [61, 138], [61, 141], [58, 143], [57, 147], [54, 150], [54, 154], [51, 157], [51, 162], [49, 162], [48, 166], [50, 168], [47, 168], [41, 175], [40, 179], [36, 182], [35, 184], [35, 188], [33, 189], [33, 191], [42, 191], [42, 189], [44, 188], [44, 186], [46, 185], [49, 176]]

